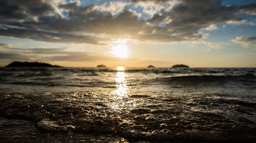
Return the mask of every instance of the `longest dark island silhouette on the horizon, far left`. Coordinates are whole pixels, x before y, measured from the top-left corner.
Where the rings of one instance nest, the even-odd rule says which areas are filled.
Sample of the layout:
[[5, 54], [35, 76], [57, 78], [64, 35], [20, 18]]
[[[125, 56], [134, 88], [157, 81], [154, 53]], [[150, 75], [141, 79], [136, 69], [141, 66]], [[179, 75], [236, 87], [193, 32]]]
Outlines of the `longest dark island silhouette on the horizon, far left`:
[[58, 65], [51, 65], [49, 63], [40, 62], [12, 62], [5, 67], [62, 67]]

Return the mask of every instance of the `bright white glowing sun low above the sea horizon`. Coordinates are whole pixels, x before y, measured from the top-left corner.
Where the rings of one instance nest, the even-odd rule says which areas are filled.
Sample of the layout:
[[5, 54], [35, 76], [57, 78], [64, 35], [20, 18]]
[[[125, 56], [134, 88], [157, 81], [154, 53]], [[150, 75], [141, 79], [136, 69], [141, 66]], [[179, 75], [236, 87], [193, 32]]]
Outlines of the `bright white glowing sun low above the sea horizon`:
[[111, 54], [119, 58], [127, 58], [129, 55], [127, 46], [124, 44], [118, 44], [116, 46], [113, 46]]

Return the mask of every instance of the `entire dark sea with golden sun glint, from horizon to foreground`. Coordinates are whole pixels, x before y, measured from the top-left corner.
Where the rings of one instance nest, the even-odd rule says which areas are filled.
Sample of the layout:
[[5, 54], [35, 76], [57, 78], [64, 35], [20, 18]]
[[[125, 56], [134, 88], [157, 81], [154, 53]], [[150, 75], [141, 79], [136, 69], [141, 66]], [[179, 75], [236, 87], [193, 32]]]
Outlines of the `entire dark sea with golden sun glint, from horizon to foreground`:
[[0, 142], [256, 142], [256, 68], [0, 68]]

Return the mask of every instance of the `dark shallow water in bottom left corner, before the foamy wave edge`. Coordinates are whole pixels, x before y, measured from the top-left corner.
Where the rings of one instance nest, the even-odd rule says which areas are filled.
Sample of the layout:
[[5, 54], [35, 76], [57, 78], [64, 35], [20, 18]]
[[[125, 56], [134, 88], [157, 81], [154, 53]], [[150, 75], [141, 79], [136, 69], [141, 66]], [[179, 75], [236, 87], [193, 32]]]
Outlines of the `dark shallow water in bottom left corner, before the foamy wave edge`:
[[3, 142], [127, 142], [114, 135], [82, 133], [47, 133], [36, 129], [33, 122], [0, 118], [1, 141]]

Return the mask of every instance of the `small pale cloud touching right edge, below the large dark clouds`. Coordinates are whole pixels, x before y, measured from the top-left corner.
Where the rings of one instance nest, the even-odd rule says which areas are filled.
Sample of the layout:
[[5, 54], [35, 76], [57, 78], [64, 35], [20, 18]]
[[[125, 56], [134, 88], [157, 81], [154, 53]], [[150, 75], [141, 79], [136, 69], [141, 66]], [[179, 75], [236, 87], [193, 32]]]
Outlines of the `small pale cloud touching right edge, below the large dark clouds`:
[[234, 43], [239, 43], [244, 47], [256, 46], [256, 37], [236, 37], [236, 39], [231, 39]]

